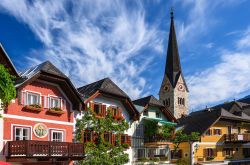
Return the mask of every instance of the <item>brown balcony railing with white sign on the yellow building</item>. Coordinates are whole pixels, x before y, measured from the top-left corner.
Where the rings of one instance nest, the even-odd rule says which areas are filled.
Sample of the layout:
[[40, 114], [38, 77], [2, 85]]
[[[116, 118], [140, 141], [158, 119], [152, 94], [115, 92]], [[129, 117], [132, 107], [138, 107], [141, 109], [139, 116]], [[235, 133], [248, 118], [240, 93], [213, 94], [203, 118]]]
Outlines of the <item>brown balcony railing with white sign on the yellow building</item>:
[[246, 143], [250, 142], [250, 134], [225, 134], [224, 135], [224, 141], [226, 143], [228, 142], [234, 142], [234, 143]]

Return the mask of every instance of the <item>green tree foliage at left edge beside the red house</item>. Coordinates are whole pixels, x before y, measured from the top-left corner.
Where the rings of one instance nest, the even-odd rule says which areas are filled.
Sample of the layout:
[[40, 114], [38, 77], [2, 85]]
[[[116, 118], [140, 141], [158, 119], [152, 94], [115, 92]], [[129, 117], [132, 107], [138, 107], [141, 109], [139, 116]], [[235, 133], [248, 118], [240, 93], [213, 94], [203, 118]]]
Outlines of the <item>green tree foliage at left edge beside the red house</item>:
[[15, 77], [10, 75], [8, 70], [0, 64], [0, 99], [3, 108], [6, 108], [10, 101], [16, 97], [14, 79]]

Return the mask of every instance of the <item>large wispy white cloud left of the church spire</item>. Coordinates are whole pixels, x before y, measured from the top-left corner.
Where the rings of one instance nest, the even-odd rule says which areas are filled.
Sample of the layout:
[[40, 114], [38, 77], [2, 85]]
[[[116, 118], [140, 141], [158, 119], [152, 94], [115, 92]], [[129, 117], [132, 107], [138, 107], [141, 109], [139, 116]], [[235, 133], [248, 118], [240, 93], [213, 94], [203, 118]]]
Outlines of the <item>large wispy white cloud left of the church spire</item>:
[[140, 74], [152, 60], [140, 52], [163, 52], [161, 32], [146, 23], [139, 1], [128, 8], [118, 0], [3, 0], [0, 9], [27, 24], [44, 44], [31, 52], [30, 64], [49, 59], [78, 86], [111, 77], [137, 98], [146, 84]]

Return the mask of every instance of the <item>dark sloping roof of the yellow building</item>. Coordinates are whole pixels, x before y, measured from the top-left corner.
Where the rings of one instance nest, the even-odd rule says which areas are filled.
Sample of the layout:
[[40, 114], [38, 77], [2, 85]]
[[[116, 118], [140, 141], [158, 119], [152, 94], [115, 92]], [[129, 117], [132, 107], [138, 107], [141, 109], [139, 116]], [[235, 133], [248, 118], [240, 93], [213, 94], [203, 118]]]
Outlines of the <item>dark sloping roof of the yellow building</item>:
[[204, 134], [219, 119], [228, 119], [232, 121], [250, 122], [250, 116], [242, 112], [241, 116], [234, 115], [224, 108], [205, 109], [190, 113], [187, 117], [178, 120], [178, 127], [184, 128], [184, 133], [199, 132]]

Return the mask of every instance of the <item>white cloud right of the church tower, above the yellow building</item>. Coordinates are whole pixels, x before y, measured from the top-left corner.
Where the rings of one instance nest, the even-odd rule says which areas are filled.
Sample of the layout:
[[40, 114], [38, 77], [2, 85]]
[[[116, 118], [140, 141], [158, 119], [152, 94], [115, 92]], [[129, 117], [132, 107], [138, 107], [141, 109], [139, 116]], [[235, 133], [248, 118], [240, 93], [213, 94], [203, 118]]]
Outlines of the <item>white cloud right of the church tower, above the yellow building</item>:
[[219, 103], [250, 91], [249, 28], [237, 40], [240, 49], [219, 52], [214, 66], [187, 77], [192, 108]]

